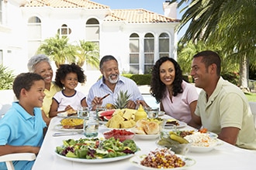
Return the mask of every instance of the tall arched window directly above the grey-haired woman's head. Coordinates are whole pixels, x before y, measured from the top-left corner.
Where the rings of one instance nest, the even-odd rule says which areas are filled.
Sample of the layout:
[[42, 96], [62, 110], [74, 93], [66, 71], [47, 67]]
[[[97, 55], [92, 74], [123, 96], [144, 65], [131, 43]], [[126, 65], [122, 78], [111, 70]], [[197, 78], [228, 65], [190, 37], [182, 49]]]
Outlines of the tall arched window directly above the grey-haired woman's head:
[[28, 55], [34, 56], [40, 43], [42, 41], [41, 36], [41, 19], [37, 16], [32, 16], [28, 19], [27, 23], [27, 37], [28, 37]]

